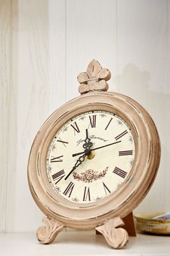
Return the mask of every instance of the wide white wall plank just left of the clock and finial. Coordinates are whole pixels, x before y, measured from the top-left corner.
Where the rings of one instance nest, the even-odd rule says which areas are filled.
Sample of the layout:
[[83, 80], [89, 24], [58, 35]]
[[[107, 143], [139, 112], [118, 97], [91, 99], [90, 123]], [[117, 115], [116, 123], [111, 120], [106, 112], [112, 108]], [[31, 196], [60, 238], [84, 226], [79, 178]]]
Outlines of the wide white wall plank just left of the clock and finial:
[[12, 1], [12, 9], [14, 129], [10, 134], [13, 161], [10, 160], [9, 167], [6, 231], [30, 231], [42, 217], [27, 186], [29, 150], [37, 129], [65, 99], [65, 86], [61, 87], [65, 72], [65, 3]]

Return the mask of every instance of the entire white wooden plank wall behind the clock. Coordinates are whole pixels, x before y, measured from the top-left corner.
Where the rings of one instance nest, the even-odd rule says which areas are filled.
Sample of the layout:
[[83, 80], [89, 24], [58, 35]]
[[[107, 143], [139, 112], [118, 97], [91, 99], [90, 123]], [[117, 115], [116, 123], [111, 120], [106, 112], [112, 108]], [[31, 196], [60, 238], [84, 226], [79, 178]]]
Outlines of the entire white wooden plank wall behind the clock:
[[0, 231], [35, 231], [42, 213], [27, 186], [37, 130], [79, 95], [92, 59], [112, 72], [109, 90], [153, 116], [161, 166], [136, 212], [170, 210], [170, 1], [0, 0]]

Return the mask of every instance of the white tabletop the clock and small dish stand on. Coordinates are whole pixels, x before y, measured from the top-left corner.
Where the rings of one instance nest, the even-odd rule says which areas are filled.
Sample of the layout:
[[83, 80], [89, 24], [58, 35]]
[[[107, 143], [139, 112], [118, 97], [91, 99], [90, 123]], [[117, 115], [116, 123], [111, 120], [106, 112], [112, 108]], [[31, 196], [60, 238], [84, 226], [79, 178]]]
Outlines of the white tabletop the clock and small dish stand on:
[[94, 231], [63, 231], [53, 244], [39, 244], [35, 233], [0, 234], [0, 256], [169, 255], [170, 236], [138, 234], [125, 249], [112, 249]]

